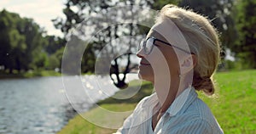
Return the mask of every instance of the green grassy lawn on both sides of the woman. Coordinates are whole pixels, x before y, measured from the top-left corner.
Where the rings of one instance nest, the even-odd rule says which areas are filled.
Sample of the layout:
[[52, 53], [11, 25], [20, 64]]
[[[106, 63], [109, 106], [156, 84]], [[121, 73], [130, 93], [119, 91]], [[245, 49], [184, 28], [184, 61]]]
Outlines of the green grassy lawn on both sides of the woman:
[[[218, 82], [216, 95], [208, 98], [203, 93], [199, 93], [212, 113], [216, 116], [218, 123], [222, 126], [225, 133], [256, 133], [256, 70], [243, 70], [232, 72], [219, 72], [215, 75]], [[144, 82], [142, 89], [137, 95], [125, 100], [108, 98], [98, 104], [112, 111], [126, 111], [134, 109], [137, 102], [151, 94], [152, 86]], [[82, 116], [94, 117], [102, 120], [106, 124], [118, 124], [125, 117], [115, 115], [105, 115], [99, 108], [75, 116], [69, 120], [59, 134], [108, 134], [116, 130], [95, 126], [84, 120]]]

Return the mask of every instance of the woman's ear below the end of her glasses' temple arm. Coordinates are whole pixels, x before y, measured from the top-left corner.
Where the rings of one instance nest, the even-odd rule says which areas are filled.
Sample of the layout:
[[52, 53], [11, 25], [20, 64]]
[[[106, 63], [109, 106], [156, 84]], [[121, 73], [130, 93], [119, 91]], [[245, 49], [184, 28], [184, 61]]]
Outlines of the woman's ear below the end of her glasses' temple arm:
[[181, 64], [182, 74], [187, 74], [190, 70], [193, 70], [196, 64], [197, 59], [195, 54], [189, 54], [187, 57], [185, 57], [183, 63]]

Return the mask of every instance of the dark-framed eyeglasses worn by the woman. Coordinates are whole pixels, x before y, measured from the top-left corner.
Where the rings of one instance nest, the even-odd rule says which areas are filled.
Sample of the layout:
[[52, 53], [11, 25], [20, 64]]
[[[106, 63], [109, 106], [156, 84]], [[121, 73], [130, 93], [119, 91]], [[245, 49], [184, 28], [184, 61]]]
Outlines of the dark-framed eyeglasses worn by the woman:
[[177, 47], [177, 46], [173, 46], [172, 44], [170, 44], [168, 42], [161, 41], [160, 39], [157, 39], [154, 36], [149, 36], [146, 40], [143, 40], [139, 44], [139, 46], [138, 46], [138, 51], [143, 48], [144, 53], [146, 55], [150, 54], [152, 52], [152, 49], [153, 49], [154, 45], [155, 45], [155, 41], [165, 43], [166, 45], [169, 45], [169, 46], [172, 46], [172, 47], [176, 47], [177, 49], [182, 50], [185, 53], [191, 54], [189, 51], [186, 51], [183, 48], [180, 48], [180, 47]]

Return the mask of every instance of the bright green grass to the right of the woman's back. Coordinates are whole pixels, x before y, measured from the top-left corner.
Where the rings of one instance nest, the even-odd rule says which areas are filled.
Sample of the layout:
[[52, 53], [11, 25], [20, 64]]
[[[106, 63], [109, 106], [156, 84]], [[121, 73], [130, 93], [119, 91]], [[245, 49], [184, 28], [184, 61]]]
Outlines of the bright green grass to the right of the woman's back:
[[202, 98], [225, 133], [256, 133], [256, 70], [222, 72], [216, 76], [218, 98]]

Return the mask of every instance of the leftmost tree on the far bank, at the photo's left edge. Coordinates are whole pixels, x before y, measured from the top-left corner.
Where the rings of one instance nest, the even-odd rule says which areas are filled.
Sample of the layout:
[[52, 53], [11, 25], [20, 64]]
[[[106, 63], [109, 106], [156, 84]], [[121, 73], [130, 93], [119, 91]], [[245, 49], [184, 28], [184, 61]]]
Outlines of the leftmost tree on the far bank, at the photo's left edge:
[[20, 35], [16, 28], [18, 20], [20, 20], [18, 14], [10, 14], [4, 9], [0, 13], [0, 64], [3, 64], [5, 69], [9, 69], [9, 73], [22, 68], [26, 50], [25, 36]]

